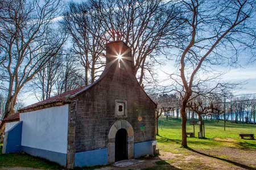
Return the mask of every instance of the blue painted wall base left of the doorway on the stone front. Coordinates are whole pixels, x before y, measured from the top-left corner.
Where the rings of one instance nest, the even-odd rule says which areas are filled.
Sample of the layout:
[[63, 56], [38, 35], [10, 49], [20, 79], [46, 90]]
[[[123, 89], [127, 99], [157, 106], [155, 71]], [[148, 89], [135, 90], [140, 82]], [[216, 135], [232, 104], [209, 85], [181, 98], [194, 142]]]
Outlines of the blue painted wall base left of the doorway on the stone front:
[[77, 152], [75, 155], [75, 167], [92, 167], [108, 164], [108, 148]]

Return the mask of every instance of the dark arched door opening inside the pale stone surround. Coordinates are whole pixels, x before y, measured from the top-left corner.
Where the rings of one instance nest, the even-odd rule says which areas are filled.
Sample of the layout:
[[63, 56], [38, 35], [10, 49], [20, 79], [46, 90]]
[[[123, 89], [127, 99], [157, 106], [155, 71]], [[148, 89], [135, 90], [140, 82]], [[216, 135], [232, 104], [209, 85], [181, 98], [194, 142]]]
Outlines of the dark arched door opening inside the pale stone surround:
[[119, 129], [115, 134], [115, 162], [127, 159], [127, 131]]

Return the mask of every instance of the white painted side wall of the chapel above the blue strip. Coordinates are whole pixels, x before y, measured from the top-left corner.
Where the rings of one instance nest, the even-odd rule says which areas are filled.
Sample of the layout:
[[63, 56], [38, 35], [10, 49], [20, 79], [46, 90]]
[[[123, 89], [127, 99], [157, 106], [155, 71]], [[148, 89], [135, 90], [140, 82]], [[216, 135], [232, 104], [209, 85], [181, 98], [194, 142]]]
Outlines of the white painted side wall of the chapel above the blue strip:
[[22, 146], [67, 154], [68, 104], [20, 113]]

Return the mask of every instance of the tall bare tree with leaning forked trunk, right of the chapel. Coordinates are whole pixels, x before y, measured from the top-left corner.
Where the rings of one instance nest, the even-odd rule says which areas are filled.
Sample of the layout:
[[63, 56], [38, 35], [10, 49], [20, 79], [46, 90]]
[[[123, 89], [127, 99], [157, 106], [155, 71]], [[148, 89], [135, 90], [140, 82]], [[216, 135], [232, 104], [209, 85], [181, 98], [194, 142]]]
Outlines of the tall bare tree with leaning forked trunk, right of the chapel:
[[[255, 28], [250, 24], [255, 19], [250, 18], [254, 16], [254, 6], [255, 2], [250, 0], [180, 1], [187, 39], [174, 45], [178, 50], [179, 74], [172, 78], [180, 86], [182, 98], [182, 146], [187, 146], [186, 107], [192, 93], [199, 84], [213, 80], [202, 77], [209, 75], [214, 65], [236, 62], [240, 49], [255, 47]], [[228, 55], [225, 50], [235, 53]]]

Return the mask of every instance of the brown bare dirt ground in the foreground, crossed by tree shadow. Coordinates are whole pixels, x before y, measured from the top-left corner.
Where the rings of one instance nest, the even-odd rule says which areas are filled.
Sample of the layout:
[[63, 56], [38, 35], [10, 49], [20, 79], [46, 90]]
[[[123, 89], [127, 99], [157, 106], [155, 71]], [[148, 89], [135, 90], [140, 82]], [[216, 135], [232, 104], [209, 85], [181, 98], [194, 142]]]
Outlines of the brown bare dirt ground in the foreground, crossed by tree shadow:
[[[143, 162], [129, 167], [115, 167], [108, 165], [97, 170], [178, 170], [178, 169], [255, 169], [256, 150], [223, 147], [218, 150], [193, 150], [188, 149], [182, 154], [160, 152], [158, 157], [141, 159]], [[35, 168], [0, 168], [10, 170], [34, 170]], [[35, 169], [39, 170], [39, 169]], [[42, 169], [40, 169], [42, 170]]]

